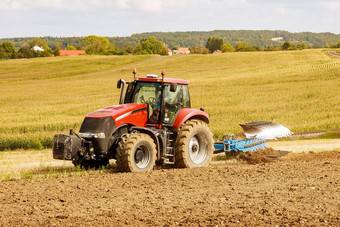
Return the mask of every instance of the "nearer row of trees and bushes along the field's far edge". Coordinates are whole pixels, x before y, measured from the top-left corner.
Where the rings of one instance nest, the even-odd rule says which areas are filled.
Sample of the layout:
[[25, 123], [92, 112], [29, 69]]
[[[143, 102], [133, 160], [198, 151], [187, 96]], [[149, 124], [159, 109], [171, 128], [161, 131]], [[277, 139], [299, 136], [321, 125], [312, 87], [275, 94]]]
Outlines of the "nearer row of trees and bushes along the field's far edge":
[[[340, 48], [340, 42], [335, 44], [325, 45], [329, 48]], [[38, 48], [36, 48], [38, 47]], [[11, 42], [0, 43], [0, 59], [9, 58], [33, 58], [33, 57], [49, 57], [60, 55], [60, 50], [64, 46], [62, 43], [57, 42], [54, 49], [49, 47], [46, 40], [42, 38], [35, 38], [28, 40], [21, 47], [16, 50]], [[284, 42], [280, 46], [267, 46], [266, 48], [260, 46], [249, 45], [245, 41], [239, 41], [234, 46], [226, 43], [221, 37], [209, 37], [206, 43], [201, 46], [191, 46], [189, 48], [191, 54], [208, 54], [215, 52], [243, 52], [243, 51], [278, 51], [278, 50], [302, 50], [308, 48], [304, 42]], [[159, 54], [168, 55], [168, 45], [158, 40], [155, 36], [142, 38], [136, 46], [125, 46], [120, 48], [109, 39], [101, 36], [90, 35], [83, 38], [77, 46], [68, 45], [67, 50], [85, 50], [86, 54], [98, 55], [124, 55], [124, 54]], [[174, 46], [173, 50], [178, 50], [178, 46]]]

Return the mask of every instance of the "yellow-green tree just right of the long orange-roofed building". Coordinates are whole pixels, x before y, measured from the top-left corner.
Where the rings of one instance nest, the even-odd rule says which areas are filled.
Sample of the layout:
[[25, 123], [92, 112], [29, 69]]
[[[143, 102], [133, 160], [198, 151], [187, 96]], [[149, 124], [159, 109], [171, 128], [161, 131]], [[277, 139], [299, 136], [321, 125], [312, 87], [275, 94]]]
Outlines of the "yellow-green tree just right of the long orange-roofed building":
[[101, 36], [87, 36], [82, 43], [87, 54], [107, 54], [109, 48], [109, 40]]

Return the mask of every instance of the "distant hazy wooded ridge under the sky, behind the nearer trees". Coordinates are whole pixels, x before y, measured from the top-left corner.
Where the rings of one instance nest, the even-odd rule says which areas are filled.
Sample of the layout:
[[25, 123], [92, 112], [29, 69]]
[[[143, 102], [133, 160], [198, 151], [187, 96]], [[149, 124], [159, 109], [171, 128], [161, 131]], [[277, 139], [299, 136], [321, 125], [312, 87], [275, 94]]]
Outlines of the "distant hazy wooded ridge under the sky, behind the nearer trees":
[[[165, 43], [169, 48], [173, 47], [204, 47], [209, 37], [220, 37], [225, 43], [235, 46], [239, 41], [245, 41], [248, 45], [266, 48], [268, 46], [281, 46], [284, 42], [299, 41], [304, 42], [308, 47], [321, 48], [326, 44], [338, 43], [340, 34], [333, 33], [312, 33], [299, 32], [291, 33], [287, 31], [252, 31], [252, 30], [215, 30], [215, 31], [192, 31], [192, 32], [147, 32], [133, 34], [128, 37], [106, 37], [110, 43], [119, 48], [136, 46], [143, 38], [155, 36], [159, 41]], [[282, 37], [282, 41], [272, 41], [272, 38]], [[35, 37], [24, 38], [2, 38], [1, 42], [12, 42], [14, 47], [19, 49], [22, 44]], [[48, 46], [54, 50], [57, 43], [63, 48], [67, 46], [79, 46], [84, 37], [41, 37]]]

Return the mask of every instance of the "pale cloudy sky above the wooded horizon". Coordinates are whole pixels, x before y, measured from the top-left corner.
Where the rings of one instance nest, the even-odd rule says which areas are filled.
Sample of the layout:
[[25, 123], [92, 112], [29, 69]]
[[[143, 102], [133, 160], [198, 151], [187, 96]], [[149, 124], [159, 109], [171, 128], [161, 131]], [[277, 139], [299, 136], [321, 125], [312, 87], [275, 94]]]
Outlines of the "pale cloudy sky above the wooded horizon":
[[212, 30], [340, 34], [340, 0], [0, 0], [0, 38]]

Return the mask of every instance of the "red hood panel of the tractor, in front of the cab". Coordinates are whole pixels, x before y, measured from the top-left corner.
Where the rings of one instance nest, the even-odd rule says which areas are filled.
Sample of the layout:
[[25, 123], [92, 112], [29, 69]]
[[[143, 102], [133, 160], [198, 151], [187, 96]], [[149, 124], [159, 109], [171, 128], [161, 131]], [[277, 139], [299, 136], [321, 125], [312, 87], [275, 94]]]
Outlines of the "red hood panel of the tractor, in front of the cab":
[[145, 127], [147, 122], [147, 104], [145, 103], [128, 103], [116, 106], [106, 107], [89, 113], [86, 118], [106, 118], [112, 117], [116, 127], [123, 124], [132, 124], [139, 127]]

